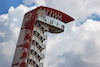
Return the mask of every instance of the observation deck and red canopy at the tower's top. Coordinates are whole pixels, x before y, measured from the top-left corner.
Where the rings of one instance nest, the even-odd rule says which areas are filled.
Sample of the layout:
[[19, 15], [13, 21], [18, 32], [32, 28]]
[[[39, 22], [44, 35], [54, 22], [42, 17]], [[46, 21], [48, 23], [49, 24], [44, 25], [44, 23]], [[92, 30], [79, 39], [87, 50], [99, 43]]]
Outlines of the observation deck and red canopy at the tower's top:
[[26, 20], [35, 20], [42, 22], [45, 26], [48, 26], [51, 33], [61, 33], [64, 31], [64, 24], [73, 21], [74, 19], [69, 15], [58, 11], [53, 8], [40, 6], [31, 10], [25, 14]]

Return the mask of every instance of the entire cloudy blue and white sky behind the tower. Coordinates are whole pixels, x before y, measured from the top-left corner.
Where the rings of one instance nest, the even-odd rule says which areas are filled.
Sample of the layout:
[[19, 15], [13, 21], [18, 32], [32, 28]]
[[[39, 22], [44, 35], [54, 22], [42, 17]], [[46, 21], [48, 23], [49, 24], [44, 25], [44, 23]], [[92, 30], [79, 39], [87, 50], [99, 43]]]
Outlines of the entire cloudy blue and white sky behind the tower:
[[40, 5], [75, 19], [48, 33], [44, 67], [100, 67], [100, 0], [0, 0], [0, 67], [11, 67], [23, 16]]

